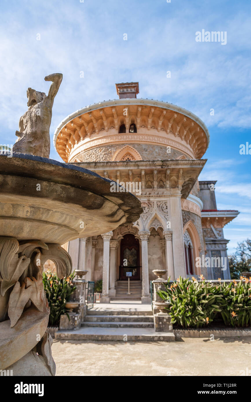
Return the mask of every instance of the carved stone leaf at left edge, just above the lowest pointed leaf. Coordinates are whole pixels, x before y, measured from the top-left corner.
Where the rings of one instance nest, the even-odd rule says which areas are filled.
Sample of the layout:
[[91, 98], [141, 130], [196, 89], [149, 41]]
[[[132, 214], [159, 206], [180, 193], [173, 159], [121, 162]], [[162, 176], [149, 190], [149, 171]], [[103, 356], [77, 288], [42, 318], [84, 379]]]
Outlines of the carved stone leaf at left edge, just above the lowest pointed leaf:
[[9, 280], [3, 280], [1, 284], [1, 295], [4, 296], [6, 290], [13, 286], [16, 281], [19, 280], [25, 269], [28, 267], [30, 259], [25, 255], [19, 257], [18, 254], [14, 254], [8, 267]]

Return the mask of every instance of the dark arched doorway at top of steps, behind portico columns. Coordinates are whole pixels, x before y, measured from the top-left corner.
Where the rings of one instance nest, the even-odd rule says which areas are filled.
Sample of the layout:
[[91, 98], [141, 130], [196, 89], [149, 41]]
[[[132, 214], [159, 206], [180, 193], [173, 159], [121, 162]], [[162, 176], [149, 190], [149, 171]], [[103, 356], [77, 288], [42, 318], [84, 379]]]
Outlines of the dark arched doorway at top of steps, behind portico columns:
[[132, 272], [130, 280], [140, 280], [140, 243], [133, 234], [125, 234], [120, 242], [119, 279], [128, 280], [127, 272]]

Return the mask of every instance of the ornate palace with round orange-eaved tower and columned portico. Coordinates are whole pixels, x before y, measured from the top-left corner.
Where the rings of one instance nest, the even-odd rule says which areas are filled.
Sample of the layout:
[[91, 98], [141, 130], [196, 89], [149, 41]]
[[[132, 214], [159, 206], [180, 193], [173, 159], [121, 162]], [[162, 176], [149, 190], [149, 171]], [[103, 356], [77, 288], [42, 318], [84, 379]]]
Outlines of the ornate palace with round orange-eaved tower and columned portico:
[[[66, 163], [114, 180], [111, 199], [114, 191], [129, 189], [143, 212], [134, 224], [70, 241], [73, 269], [88, 270], [86, 280], [103, 280], [103, 302], [149, 303], [154, 269], [167, 270], [164, 278], [171, 279], [201, 274], [230, 279], [223, 228], [239, 212], [219, 211], [216, 181], [198, 181], [208, 129], [181, 107], [137, 98], [138, 82], [116, 88], [118, 99], [66, 117], [54, 133], [54, 146]], [[132, 273], [130, 296], [127, 272]]]

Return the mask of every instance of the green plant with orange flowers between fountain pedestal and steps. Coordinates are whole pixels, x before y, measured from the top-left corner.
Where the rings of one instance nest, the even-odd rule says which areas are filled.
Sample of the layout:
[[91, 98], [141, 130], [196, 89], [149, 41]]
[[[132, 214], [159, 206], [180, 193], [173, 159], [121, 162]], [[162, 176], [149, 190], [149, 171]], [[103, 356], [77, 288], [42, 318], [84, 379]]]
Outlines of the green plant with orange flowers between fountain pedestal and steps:
[[60, 315], [65, 313], [68, 315], [65, 305], [66, 301], [70, 301], [70, 296], [76, 289], [72, 283], [74, 277], [74, 272], [68, 278], [63, 279], [59, 279], [51, 271], [43, 272], [43, 286], [50, 308], [50, 325], [59, 325]]

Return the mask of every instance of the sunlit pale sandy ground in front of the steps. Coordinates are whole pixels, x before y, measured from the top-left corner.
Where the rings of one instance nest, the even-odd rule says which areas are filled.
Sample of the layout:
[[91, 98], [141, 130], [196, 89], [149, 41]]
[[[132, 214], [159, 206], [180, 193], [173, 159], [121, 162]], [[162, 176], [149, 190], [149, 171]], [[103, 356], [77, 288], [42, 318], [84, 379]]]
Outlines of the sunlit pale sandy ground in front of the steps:
[[[111, 308], [111, 306], [109, 306]], [[251, 373], [251, 337], [179, 342], [54, 340], [56, 375], [240, 375]]]

